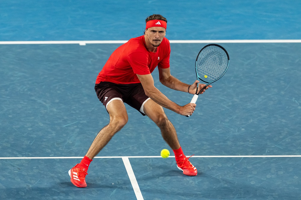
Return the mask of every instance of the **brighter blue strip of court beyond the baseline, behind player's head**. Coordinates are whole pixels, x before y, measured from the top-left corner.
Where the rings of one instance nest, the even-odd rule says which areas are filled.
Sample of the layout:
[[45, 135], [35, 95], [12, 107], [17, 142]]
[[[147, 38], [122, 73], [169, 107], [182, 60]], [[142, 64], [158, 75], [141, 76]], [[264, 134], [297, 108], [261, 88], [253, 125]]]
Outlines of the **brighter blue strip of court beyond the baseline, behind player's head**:
[[0, 41], [128, 40], [145, 18], [168, 20], [170, 40], [300, 39], [300, 1], [1, 0]]

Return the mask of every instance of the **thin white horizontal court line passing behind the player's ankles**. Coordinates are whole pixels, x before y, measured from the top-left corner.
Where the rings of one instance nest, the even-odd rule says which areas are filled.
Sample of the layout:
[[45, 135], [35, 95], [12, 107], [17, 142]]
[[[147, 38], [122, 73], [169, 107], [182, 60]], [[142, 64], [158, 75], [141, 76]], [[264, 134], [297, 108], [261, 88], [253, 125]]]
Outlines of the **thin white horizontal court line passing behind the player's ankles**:
[[[169, 156], [174, 158], [175, 156]], [[193, 156], [195, 158], [268, 158], [301, 157], [301, 155]], [[83, 157], [0, 157], [0, 159], [82, 159]], [[94, 158], [161, 158], [161, 156], [95, 156]]]

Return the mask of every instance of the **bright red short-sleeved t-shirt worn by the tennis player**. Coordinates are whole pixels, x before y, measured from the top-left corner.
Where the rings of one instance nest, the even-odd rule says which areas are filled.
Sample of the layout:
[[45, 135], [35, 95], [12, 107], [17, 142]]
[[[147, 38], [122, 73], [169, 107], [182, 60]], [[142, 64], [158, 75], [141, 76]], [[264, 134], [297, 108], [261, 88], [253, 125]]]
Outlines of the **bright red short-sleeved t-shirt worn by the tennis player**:
[[140, 83], [136, 74], [151, 74], [156, 66], [169, 68], [169, 56], [170, 44], [165, 37], [155, 53], [147, 50], [144, 35], [132, 38], [112, 53], [95, 83]]

